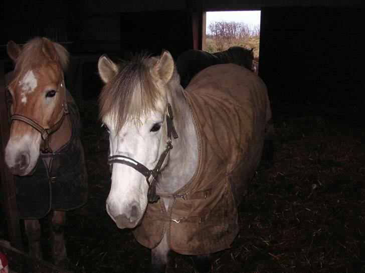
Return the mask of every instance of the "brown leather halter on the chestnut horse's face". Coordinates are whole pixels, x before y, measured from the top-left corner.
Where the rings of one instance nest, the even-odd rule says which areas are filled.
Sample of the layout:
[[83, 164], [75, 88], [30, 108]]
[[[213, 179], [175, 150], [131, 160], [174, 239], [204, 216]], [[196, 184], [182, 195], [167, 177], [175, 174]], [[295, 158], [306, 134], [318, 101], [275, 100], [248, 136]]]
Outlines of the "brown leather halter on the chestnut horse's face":
[[[64, 85], [63, 82], [64, 82], [64, 80], [62, 79], [61, 83], [60, 83], [60, 87], [62, 87]], [[53, 151], [50, 147], [49, 138], [52, 133], [54, 133], [61, 127], [62, 122], [65, 119], [65, 116], [67, 114], [69, 114], [66, 100], [62, 102], [62, 108], [63, 108], [62, 109], [63, 113], [62, 113], [61, 118], [49, 128], [42, 127], [39, 123], [34, 121], [32, 118], [29, 118], [29, 117], [21, 115], [21, 114], [13, 114], [11, 117], [11, 121], [12, 122], [13, 122], [13, 120], [22, 121], [22, 122], [30, 125], [34, 129], [36, 129], [37, 131], [39, 131], [41, 134], [42, 140], [43, 140], [43, 142], [41, 143], [41, 146], [40, 146], [40, 151], [42, 153], [52, 153]]]

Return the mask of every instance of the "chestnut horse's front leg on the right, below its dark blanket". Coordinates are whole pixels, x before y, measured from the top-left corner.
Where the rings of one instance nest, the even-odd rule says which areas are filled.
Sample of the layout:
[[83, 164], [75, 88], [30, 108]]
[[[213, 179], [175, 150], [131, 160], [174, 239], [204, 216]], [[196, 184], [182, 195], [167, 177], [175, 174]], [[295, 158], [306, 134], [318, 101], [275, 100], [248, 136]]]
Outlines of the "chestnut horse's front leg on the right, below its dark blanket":
[[64, 227], [66, 223], [66, 211], [54, 210], [52, 216], [51, 225], [51, 243], [52, 243], [52, 256], [55, 264], [66, 267], [69, 259], [67, 258]]

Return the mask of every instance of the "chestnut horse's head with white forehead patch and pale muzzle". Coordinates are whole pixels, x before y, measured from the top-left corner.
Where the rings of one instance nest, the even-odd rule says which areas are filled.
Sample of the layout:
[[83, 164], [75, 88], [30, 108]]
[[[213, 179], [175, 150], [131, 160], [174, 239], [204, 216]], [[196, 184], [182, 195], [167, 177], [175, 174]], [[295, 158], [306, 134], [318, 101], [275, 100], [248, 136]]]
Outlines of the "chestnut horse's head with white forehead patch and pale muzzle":
[[63, 117], [63, 69], [68, 52], [47, 38], [34, 38], [23, 47], [9, 41], [7, 50], [15, 70], [8, 85], [13, 103], [5, 160], [12, 173], [27, 175], [38, 161], [43, 139], [48, 141], [47, 132], [42, 134], [42, 129], [52, 128]]

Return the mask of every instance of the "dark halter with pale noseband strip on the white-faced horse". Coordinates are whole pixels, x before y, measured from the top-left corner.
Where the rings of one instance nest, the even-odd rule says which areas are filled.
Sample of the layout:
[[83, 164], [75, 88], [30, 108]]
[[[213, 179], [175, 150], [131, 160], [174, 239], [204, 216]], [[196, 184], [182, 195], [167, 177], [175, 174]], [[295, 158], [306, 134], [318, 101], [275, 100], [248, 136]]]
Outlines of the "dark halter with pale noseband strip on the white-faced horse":
[[[108, 157], [108, 163], [111, 165], [113, 163], [120, 163], [127, 166], [134, 168], [135, 170], [139, 171], [144, 177], [146, 177], [146, 182], [148, 184], [148, 193], [147, 198], [148, 202], [154, 203], [156, 202], [160, 196], [156, 194], [156, 184], [158, 182], [158, 175], [161, 172], [161, 166], [165, 157], [170, 149], [172, 149], [172, 141], [171, 141], [171, 134], [173, 138], [177, 138], [178, 135], [176, 133], [175, 127], [173, 125], [173, 114], [172, 108], [169, 103], [166, 105], [166, 124], [167, 124], [167, 143], [166, 148], [160, 155], [156, 166], [153, 169], [147, 168], [145, 165], [139, 163], [138, 161], [134, 160], [131, 157], [124, 156], [124, 155], [111, 155]], [[151, 177], [152, 176], [152, 177]], [[152, 178], [150, 182], [149, 179]]]

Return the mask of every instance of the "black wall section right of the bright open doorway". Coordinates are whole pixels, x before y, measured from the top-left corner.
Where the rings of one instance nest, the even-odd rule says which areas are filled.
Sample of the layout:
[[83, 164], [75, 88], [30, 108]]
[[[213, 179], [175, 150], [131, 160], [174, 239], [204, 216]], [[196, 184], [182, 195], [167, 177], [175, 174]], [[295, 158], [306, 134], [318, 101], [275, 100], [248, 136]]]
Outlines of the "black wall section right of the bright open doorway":
[[364, 14], [364, 8], [263, 8], [260, 76], [270, 96], [330, 104], [362, 99]]

